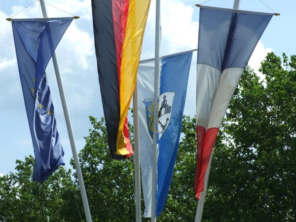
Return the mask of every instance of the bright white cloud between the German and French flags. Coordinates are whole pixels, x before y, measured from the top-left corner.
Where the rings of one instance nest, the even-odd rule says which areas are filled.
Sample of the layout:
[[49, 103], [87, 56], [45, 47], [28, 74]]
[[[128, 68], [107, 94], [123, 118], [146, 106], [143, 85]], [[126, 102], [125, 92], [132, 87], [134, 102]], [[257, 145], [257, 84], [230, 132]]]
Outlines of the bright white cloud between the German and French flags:
[[[190, 5], [185, 5], [182, 1], [161, 1], [161, 55], [186, 51], [197, 47], [198, 22], [192, 21], [193, 12], [194, 8]], [[154, 56], [154, 46], [152, 46], [154, 44], [154, 38], [155, 0], [152, 0], [141, 59], [152, 58]]]

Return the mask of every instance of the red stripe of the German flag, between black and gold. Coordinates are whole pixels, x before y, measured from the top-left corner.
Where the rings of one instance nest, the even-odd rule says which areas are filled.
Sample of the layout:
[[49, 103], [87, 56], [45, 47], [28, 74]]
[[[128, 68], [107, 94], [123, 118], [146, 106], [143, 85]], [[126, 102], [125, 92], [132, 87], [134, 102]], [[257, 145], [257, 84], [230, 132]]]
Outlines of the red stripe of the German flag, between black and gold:
[[[122, 48], [125, 37], [126, 22], [129, 9], [129, 0], [112, 0], [112, 18], [113, 18], [113, 30], [114, 30], [114, 41], [116, 51], [116, 63], [118, 72], [118, 86], [120, 89], [120, 70], [122, 60]], [[120, 92], [120, 90], [119, 90]], [[120, 95], [119, 95], [120, 100]], [[133, 154], [133, 149], [130, 144], [129, 132], [127, 127], [127, 117], [125, 119], [123, 127], [123, 136], [126, 142], [126, 149]], [[129, 157], [130, 155], [127, 155]]]

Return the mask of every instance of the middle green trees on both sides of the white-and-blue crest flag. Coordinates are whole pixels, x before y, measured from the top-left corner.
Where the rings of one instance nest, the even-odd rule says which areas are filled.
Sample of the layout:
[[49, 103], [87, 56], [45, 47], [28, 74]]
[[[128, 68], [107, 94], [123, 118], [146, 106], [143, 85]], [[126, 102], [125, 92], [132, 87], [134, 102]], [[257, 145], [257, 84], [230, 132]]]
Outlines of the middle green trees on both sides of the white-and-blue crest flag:
[[[104, 119], [90, 116], [93, 128], [85, 137], [86, 145], [79, 153], [84, 182], [93, 221], [135, 221], [134, 159], [113, 160], [109, 154]], [[133, 130], [130, 139], [133, 144]], [[195, 118], [185, 116], [171, 191], [159, 222], [193, 221], [197, 201], [194, 199], [196, 136]], [[72, 161], [74, 167], [74, 162]], [[76, 181], [77, 183], [77, 181]], [[144, 213], [142, 195], [142, 215]], [[143, 221], [149, 221], [144, 219]]]

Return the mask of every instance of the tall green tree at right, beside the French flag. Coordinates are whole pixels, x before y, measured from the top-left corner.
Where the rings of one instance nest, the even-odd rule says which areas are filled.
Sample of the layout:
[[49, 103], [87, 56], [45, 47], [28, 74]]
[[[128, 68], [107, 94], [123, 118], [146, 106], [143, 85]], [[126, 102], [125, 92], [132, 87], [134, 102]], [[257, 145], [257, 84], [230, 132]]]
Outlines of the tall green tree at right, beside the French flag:
[[204, 221], [296, 220], [296, 56], [247, 68], [216, 143]]

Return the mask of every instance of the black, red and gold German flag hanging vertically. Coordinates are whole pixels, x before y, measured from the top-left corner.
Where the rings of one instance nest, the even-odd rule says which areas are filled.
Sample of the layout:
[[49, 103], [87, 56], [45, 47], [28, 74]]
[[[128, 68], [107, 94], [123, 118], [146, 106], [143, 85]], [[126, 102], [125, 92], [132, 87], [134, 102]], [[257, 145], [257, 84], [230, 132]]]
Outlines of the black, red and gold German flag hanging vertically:
[[137, 80], [149, 5], [150, 0], [92, 0], [101, 97], [114, 159], [133, 154], [127, 111]]

